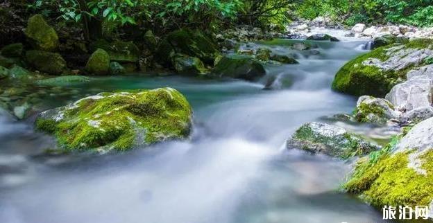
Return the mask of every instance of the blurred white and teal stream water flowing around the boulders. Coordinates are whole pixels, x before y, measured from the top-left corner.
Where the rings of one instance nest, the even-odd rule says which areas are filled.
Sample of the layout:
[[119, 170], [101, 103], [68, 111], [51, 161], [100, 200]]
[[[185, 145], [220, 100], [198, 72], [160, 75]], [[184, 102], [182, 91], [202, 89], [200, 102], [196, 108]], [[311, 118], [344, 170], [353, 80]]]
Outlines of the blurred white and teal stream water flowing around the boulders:
[[[32, 121], [0, 115], [0, 222], [207, 223], [382, 222], [382, 214], [339, 188], [348, 163], [285, 150], [297, 127], [348, 113], [355, 98], [330, 90], [365, 42], [319, 44], [319, 54], [269, 43], [300, 64], [269, 66], [275, 82], [145, 75], [96, 78], [50, 96], [44, 109], [115, 89], [173, 87], [194, 109], [190, 141], [126, 154], [51, 154]], [[260, 44], [251, 44], [257, 47]]]

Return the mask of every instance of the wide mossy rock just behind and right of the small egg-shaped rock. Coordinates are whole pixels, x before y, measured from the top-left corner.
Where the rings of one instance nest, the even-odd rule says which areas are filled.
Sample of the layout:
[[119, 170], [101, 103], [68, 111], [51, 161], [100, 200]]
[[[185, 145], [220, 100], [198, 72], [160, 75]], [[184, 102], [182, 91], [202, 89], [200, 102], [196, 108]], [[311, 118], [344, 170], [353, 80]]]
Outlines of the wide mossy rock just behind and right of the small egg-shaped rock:
[[133, 42], [123, 42], [115, 40], [108, 42], [105, 39], [99, 39], [90, 44], [92, 51], [98, 48], [103, 49], [110, 55], [111, 61], [117, 62], [138, 62], [139, 48]]

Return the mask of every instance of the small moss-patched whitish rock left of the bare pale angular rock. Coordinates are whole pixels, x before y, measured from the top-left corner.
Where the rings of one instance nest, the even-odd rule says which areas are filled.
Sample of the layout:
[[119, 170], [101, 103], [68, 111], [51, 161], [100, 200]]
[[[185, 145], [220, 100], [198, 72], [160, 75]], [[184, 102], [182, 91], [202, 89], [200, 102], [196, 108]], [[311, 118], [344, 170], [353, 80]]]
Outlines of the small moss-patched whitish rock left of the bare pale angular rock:
[[353, 111], [356, 121], [383, 125], [391, 118], [398, 118], [399, 112], [388, 100], [372, 96], [361, 96]]

